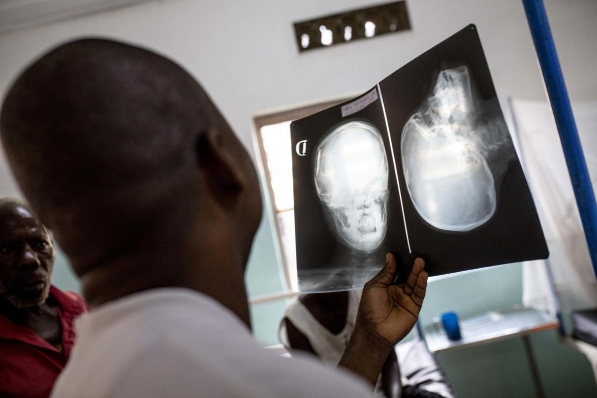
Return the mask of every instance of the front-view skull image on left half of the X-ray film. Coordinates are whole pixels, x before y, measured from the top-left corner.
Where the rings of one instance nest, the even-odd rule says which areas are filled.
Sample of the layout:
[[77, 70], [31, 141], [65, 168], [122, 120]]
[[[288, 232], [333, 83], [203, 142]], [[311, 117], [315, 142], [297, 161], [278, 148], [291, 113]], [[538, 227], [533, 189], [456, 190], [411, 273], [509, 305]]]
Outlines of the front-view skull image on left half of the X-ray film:
[[373, 252], [387, 230], [387, 157], [381, 134], [365, 122], [334, 129], [317, 147], [315, 186], [330, 227], [349, 248]]

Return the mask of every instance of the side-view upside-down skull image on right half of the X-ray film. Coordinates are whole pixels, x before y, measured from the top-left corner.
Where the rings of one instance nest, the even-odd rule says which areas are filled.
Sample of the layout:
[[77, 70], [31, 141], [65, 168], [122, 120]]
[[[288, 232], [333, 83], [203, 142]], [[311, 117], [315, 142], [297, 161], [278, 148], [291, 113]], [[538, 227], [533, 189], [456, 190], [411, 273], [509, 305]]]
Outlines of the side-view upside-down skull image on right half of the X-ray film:
[[507, 140], [500, 118], [484, 118], [466, 66], [439, 72], [432, 94], [402, 129], [402, 166], [418, 214], [432, 226], [464, 232], [496, 211], [491, 151]]

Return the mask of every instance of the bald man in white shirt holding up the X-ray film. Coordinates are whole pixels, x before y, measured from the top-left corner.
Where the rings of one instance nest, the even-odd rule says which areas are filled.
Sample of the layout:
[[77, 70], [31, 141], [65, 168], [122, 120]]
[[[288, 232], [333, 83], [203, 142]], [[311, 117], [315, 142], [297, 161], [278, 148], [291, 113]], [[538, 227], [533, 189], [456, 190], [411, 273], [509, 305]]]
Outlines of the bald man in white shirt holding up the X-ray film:
[[424, 262], [392, 285], [388, 254], [338, 369], [260, 347], [244, 282], [261, 220], [257, 173], [201, 86], [161, 55], [63, 44], [14, 82], [0, 135], [93, 308], [53, 396], [370, 396], [417, 320]]

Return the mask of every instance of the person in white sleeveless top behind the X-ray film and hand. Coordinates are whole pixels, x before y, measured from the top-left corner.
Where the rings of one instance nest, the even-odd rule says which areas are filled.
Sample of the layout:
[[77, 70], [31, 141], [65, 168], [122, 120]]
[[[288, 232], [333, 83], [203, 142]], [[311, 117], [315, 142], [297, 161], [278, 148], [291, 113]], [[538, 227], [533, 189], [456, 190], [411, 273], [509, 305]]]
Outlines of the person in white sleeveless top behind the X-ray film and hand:
[[[355, 327], [361, 294], [351, 290], [299, 295], [284, 312], [280, 341], [293, 354], [306, 351], [336, 366]], [[454, 398], [454, 391], [424, 341], [414, 338], [390, 351], [374, 396]]]

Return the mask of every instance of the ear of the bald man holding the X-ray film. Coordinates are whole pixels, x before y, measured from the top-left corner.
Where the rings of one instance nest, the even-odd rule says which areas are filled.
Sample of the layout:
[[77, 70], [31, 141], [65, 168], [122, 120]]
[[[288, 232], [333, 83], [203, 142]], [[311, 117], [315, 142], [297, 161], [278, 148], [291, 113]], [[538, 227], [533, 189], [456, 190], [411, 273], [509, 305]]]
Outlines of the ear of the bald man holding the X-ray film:
[[217, 129], [208, 128], [199, 133], [196, 156], [208, 187], [221, 199], [230, 200], [247, 186], [247, 175], [242, 171], [238, 157]]

